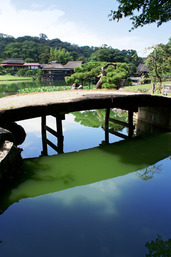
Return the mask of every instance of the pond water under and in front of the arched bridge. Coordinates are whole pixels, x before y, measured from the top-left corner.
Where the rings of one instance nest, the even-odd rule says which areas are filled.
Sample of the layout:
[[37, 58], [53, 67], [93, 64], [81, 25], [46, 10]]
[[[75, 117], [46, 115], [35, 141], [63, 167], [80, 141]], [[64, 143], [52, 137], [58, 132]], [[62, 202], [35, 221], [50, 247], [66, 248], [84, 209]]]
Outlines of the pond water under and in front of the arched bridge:
[[[48, 146], [41, 157], [41, 119], [18, 122], [27, 133], [19, 145], [24, 165], [1, 190], [1, 256], [143, 257], [151, 240], [158, 238], [154, 250], [162, 240], [170, 244], [171, 132], [148, 125], [155, 133], [132, 140], [109, 134], [105, 144], [104, 115], [66, 114], [64, 153]], [[127, 121], [118, 110], [110, 117]], [[55, 130], [55, 118], [47, 125]]]

